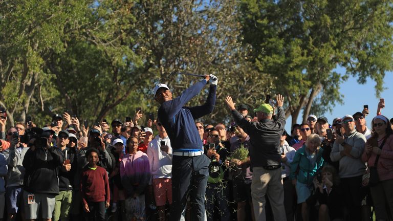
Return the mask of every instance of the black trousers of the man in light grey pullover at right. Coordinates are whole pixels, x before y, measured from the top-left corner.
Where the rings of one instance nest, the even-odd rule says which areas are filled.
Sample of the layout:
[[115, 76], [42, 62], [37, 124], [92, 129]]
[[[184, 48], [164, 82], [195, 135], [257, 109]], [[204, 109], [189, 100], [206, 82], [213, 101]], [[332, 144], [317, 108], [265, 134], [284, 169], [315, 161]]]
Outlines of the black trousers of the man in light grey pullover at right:
[[361, 220], [361, 205], [364, 197], [364, 190], [361, 186], [362, 175], [352, 178], [341, 178], [340, 181], [349, 212], [348, 220]]

